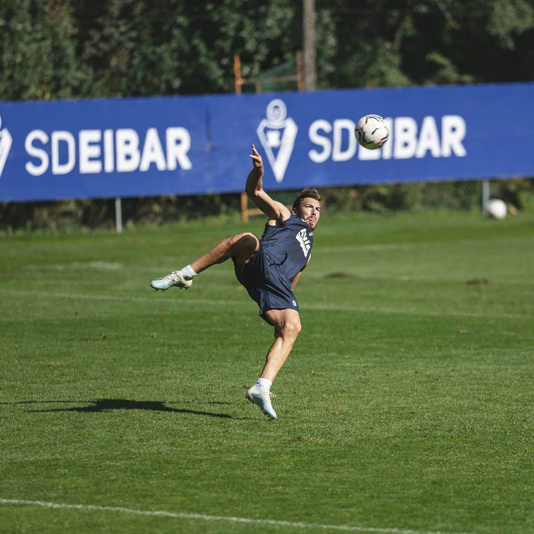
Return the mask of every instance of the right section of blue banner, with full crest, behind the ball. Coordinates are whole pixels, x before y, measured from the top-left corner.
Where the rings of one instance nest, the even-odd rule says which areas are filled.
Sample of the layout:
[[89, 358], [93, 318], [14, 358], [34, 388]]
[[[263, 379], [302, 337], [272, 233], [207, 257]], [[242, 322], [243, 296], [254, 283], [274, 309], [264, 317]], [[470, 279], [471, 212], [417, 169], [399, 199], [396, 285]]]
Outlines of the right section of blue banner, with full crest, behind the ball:
[[[213, 168], [242, 183], [252, 139], [265, 189], [532, 176], [532, 101], [534, 84], [211, 97]], [[354, 136], [368, 113], [389, 125], [379, 150]]]

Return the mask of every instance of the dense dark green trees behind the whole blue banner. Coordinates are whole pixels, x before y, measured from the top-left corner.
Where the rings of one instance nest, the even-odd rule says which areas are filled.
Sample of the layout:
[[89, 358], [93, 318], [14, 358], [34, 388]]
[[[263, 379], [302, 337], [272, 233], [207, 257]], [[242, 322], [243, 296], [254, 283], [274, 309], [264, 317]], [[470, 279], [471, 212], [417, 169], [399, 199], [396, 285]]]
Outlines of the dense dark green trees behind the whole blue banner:
[[[319, 88], [534, 80], [534, 0], [316, 0], [316, 11]], [[253, 77], [301, 48], [300, 1], [0, 0], [3, 100], [232, 92], [234, 53]], [[421, 187], [376, 202], [413, 207]]]

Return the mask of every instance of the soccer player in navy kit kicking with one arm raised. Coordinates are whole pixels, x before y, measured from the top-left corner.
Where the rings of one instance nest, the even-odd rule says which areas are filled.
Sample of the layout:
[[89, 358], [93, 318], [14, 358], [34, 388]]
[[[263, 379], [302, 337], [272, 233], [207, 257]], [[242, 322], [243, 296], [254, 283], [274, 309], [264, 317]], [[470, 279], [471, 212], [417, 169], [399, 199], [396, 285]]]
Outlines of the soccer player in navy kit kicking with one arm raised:
[[260, 316], [274, 327], [274, 342], [267, 352], [262, 373], [247, 390], [246, 397], [276, 419], [270, 388], [301, 331], [299, 304], [293, 290], [310, 261], [321, 198], [315, 189], [304, 189], [297, 194], [289, 211], [263, 190], [263, 161], [254, 145], [250, 158], [253, 166], [245, 191], [269, 217], [261, 240], [250, 232], [224, 239], [190, 265], [156, 278], [150, 285], [156, 290], [172, 286], [189, 289], [197, 274], [232, 258], [235, 276], [260, 307]]

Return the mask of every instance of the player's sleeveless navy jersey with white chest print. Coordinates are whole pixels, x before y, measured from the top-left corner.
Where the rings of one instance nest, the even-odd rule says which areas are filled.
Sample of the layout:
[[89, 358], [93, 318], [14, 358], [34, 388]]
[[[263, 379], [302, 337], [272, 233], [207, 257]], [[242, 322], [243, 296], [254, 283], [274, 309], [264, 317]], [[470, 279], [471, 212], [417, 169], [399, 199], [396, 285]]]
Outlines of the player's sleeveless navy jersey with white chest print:
[[313, 232], [308, 223], [292, 214], [276, 226], [266, 224], [260, 245], [284, 275], [293, 280], [308, 263]]

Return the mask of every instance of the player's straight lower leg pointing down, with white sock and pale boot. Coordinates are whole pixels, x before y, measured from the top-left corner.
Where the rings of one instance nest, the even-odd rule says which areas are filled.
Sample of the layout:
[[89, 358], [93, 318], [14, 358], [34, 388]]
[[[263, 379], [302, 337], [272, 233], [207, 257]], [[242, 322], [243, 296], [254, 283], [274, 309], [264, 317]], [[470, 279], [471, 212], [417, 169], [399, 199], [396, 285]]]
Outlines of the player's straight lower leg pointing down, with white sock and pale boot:
[[246, 397], [257, 404], [265, 415], [276, 419], [276, 411], [271, 404], [271, 385], [286, 362], [302, 327], [296, 310], [269, 310], [265, 312], [265, 317], [274, 326], [274, 342], [265, 358], [260, 378], [247, 390]]

